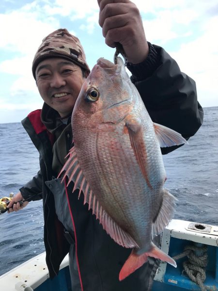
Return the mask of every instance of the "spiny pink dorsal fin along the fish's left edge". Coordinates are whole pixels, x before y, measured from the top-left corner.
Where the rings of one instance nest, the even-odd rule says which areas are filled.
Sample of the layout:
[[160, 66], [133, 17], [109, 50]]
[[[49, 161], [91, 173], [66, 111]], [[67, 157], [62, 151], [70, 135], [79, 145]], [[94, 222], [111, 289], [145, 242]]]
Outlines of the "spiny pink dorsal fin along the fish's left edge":
[[89, 204], [89, 209], [93, 210], [93, 214], [96, 215], [96, 218], [99, 219], [100, 223], [102, 224], [103, 228], [106, 232], [110, 235], [110, 237], [117, 242], [118, 244], [126, 247], [126, 248], [134, 248], [139, 247], [138, 244], [132, 239], [132, 237], [124, 231], [117, 223], [109, 216], [109, 214], [102, 208], [100, 202], [98, 201], [95, 194], [86, 180], [85, 176], [83, 175], [82, 169], [79, 165], [77, 154], [75, 148], [72, 147], [69, 152], [69, 158], [65, 165], [63, 166], [60, 174], [58, 177], [61, 176], [62, 172], [65, 171], [62, 181], [68, 177], [69, 181], [67, 186], [71, 181], [73, 181], [74, 189], [79, 189], [79, 196], [81, 191], [84, 194], [84, 204]]

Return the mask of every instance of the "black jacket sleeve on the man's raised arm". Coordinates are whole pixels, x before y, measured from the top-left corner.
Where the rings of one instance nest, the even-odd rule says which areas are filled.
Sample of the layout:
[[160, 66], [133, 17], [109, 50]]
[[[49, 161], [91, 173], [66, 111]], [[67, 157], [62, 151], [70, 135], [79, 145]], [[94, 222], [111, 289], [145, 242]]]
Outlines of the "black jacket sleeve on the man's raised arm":
[[[138, 89], [151, 119], [189, 139], [203, 120], [195, 81], [180, 71], [175, 60], [164, 49], [148, 44], [150, 51], [147, 59], [137, 65], [127, 65], [132, 73], [131, 81]], [[178, 147], [161, 148], [161, 151], [166, 154]]]

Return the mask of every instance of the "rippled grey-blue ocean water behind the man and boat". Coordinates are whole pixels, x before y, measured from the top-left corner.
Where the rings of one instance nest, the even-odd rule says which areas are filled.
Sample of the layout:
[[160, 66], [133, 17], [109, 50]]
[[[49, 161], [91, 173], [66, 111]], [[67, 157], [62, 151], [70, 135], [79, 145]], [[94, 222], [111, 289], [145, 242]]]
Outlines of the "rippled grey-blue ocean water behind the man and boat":
[[[38, 152], [21, 123], [0, 124], [0, 198], [17, 193], [39, 170]], [[175, 219], [218, 225], [218, 107], [188, 145], [163, 156]], [[45, 251], [42, 200], [0, 215], [0, 275]]]

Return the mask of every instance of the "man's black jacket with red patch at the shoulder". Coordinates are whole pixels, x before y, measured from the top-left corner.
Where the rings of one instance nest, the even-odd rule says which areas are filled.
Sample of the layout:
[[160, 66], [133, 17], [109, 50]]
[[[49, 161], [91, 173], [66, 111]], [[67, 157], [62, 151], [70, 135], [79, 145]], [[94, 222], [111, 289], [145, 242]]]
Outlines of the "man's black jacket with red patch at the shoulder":
[[[195, 82], [182, 73], [169, 54], [158, 46], [149, 44], [148, 58], [138, 65], [128, 64], [132, 72], [131, 80], [137, 87], [152, 120], [180, 132], [188, 139], [202, 125], [203, 111], [197, 101]], [[20, 189], [24, 199], [35, 194], [32, 200], [43, 198], [45, 231], [44, 241], [47, 252], [47, 266], [50, 277], [57, 275], [60, 263], [68, 253], [69, 243], [63, 236], [63, 226], [55, 213], [54, 197], [45, 185], [52, 179], [52, 146], [54, 136], [41, 121], [41, 111], [30, 113], [22, 124], [31, 137], [40, 154], [40, 171]], [[66, 138], [72, 138], [72, 132]], [[69, 144], [69, 143], [66, 143]], [[168, 153], [178, 146], [162, 149]], [[145, 291], [148, 290], [150, 276], [156, 272], [157, 261], [150, 259], [140, 269], [118, 281], [118, 275], [129, 249], [125, 249], [106, 234], [96, 221], [83, 197], [78, 200], [78, 191], [72, 192], [72, 183], [66, 195], [69, 212], [72, 215], [76, 256], [79, 275], [84, 291]], [[156, 267], [153, 268], [153, 265]], [[75, 288], [75, 291], [79, 289]], [[80, 289], [81, 290], [81, 289]]]

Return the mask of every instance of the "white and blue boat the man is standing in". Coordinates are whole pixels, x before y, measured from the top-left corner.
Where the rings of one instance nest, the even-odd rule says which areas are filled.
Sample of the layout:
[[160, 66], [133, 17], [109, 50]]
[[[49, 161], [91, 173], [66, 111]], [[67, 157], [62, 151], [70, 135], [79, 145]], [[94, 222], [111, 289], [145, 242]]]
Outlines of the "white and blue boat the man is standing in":
[[[152, 291], [218, 290], [218, 226], [173, 219], [162, 233], [161, 249], [177, 268], [160, 262]], [[1, 275], [0, 290], [71, 291], [68, 257], [50, 280], [42, 253]]]

